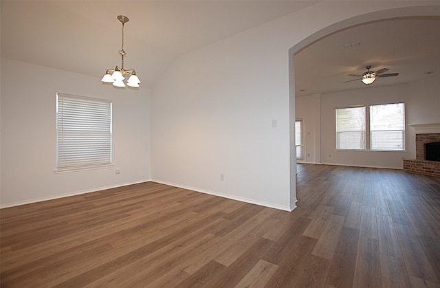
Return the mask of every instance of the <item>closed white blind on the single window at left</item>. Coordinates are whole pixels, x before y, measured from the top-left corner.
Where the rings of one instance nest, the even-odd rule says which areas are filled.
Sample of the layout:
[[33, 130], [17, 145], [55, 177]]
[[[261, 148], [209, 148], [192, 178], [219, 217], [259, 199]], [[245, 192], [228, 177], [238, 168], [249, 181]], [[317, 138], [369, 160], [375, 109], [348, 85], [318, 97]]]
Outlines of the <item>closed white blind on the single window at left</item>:
[[57, 170], [111, 164], [111, 100], [56, 95]]

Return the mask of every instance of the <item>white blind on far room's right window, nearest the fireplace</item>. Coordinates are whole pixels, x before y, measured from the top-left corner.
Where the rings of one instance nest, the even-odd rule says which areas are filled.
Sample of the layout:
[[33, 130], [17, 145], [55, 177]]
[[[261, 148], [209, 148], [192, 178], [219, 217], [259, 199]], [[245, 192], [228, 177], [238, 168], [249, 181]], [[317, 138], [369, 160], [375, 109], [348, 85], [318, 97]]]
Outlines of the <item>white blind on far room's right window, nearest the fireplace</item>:
[[370, 106], [371, 150], [405, 149], [405, 104]]

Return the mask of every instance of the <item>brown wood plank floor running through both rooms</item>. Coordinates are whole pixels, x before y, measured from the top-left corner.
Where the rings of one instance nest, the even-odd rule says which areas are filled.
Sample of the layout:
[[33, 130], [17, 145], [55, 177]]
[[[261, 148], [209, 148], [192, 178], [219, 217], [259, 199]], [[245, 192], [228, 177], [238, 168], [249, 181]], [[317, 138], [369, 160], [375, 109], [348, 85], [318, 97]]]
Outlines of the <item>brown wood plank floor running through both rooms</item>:
[[1, 287], [440, 287], [439, 178], [297, 179], [294, 212], [153, 182], [2, 209]]

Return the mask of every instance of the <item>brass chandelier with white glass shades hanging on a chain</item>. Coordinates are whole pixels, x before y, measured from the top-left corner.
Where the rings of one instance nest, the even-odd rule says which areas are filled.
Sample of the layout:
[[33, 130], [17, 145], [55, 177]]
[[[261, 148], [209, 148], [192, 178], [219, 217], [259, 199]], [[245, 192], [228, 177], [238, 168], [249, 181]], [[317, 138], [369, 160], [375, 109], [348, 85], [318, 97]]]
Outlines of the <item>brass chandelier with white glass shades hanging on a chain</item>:
[[129, 80], [127, 80], [126, 85], [129, 87], [139, 87], [140, 80], [136, 76], [135, 69], [124, 69], [124, 24], [129, 21], [129, 19], [124, 15], [119, 15], [118, 20], [122, 23], [122, 46], [119, 51], [121, 54], [121, 67], [116, 66], [115, 69], [107, 69], [105, 71], [104, 77], [101, 81], [106, 83], [113, 83], [115, 87], [125, 87], [125, 74], [130, 75]]

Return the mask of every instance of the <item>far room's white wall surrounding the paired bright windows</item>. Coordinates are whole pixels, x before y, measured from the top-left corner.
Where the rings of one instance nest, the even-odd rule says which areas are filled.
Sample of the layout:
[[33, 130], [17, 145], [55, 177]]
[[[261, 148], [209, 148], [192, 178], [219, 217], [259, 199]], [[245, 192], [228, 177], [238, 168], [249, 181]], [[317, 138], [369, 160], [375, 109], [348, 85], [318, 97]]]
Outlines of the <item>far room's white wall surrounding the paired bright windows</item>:
[[[322, 164], [366, 166], [382, 168], [403, 168], [402, 158], [415, 159], [415, 136], [412, 127], [406, 128], [406, 151], [337, 151], [335, 133], [336, 107], [352, 105], [385, 104], [405, 102], [406, 124], [440, 123], [440, 76], [430, 76], [426, 80], [405, 85], [369, 87], [320, 96], [321, 146], [307, 143], [306, 153], [321, 153]], [[314, 122], [316, 96], [297, 98], [296, 111], [304, 115], [305, 122]], [[308, 126], [308, 129], [311, 126]], [[313, 128], [312, 128], [313, 129]], [[316, 133], [314, 130], [308, 130]], [[307, 138], [308, 139], [308, 138]]]

